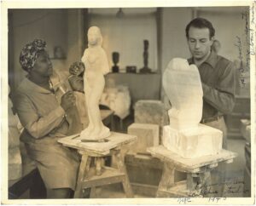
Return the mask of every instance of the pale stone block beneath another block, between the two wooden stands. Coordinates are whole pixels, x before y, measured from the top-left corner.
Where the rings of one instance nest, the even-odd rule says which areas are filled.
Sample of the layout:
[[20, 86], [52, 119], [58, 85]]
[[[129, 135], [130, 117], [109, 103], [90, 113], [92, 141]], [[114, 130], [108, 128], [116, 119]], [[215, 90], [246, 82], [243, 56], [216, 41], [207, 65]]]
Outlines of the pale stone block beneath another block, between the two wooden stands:
[[132, 123], [128, 127], [128, 134], [137, 136], [137, 142], [130, 147], [130, 152], [146, 152], [150, 146], [158, 146], [159, 125], [151, 123]]

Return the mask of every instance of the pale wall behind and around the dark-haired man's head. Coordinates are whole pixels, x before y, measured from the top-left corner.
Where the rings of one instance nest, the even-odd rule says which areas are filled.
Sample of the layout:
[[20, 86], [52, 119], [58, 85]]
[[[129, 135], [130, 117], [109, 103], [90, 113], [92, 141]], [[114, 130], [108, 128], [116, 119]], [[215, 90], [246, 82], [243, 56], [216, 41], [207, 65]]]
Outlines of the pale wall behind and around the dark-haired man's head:
[[[239, 59], [238, 38], [241, 38], [241, 58], [243, 66], [246, 65], [248, 39], [246, 38], [245, 16], [242, 16], [247, 7], [232, 8], [162, 8], [160, 9], [160, 70], [163, 72], [170, 60], [174, 57], [188, 59], [190, 57], [185, 27], [195, 17], [202, 17], [210, 20], [216, 30], [216, 39], [221, 43], [220, 55], [234, 61]], [[246, 67], [246, 66], [245, 66]], [[249, 68], [248, 68], [249, 69]], [[242, 77], [241, 77], [242, 75]], [[236, 70], [236, 94], [243, 97], [250, 96], [249, 72]], [[241, 80], [246, 84], [241, 85]], [[161, 94], [163, 98], [163, 94]]]

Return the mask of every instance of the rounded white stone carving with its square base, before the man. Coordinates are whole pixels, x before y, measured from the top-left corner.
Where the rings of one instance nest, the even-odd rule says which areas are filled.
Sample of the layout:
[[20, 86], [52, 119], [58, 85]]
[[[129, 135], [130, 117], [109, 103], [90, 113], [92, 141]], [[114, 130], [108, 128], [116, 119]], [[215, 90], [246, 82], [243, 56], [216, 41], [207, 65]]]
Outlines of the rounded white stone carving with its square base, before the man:
[[184, 59], [171, 60], [163, 75], [163, 87], [172, 104], [163, 145], [185, 158], [217, 154], [222, 149], [223, 134], [200, 124], [203, 92], [197, 67], [189, 66]]

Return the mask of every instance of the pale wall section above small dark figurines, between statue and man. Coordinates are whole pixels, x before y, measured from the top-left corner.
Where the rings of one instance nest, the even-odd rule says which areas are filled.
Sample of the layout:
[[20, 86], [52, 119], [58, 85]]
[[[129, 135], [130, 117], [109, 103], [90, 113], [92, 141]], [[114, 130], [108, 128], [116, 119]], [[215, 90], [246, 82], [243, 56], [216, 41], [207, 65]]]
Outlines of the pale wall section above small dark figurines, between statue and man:
[[119, 9], [90, 9], [90, 26], [102, 30], [103, 44], [110, 66], [112, 53], [119, 52], [119, 68], [126, 66], [143, 67], [143, 40], [149, 42], [148, 67], [157, 68], [156, 9], [122, 9], [123, 17], [116, 17]]

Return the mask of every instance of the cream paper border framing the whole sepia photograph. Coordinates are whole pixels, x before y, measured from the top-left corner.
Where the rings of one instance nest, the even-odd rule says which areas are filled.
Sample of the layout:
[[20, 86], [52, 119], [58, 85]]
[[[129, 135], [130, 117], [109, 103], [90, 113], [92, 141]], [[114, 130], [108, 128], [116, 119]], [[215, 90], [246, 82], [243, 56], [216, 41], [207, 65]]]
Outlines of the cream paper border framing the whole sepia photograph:
[[[104, 199], [8, 199], [8, 9], [51, 9], [51, 8], [146, 8], [146, 7], [216, 7], [216, 6], [250, 6], [250, 29], [252, 42], [250, 49], [255, 51], [256, 4], [253, 1], [2, 1], [1, 2], [1, 203], [3, 204], [183, 204], [179, 198], [104, 198]], [[186, 204], [252, 204], [255, 203], [255, 54], [250, 55], [250, 96], [251, 96], [251, 142], [252, 142], [252, 197], [221, 197], [218, 202], [209, 201], [208, 197], [189, 198]], [[185, 198], [185, 197], [184, 197]]]

